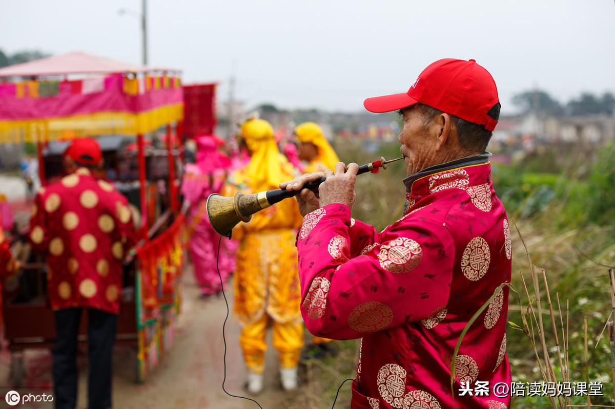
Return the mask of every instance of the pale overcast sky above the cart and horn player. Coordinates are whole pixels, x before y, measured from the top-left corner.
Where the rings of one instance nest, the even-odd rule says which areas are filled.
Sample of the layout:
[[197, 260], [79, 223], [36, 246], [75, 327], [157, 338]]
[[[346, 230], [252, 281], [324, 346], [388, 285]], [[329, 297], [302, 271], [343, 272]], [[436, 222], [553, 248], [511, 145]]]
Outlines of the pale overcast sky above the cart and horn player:
[[[119, 15], [118, 10], [130, 9]], [[0, 0], [0, 49], [141, 63], [141, 0]], [[131, 14], [132, 13], [132, 14]], [[502, 112], [538, 87], [615, 93], [614, 0], [148, 0], [149, 64], [218, 82], [250, 109], [363, 111], [440, 58], [474, 58]]]

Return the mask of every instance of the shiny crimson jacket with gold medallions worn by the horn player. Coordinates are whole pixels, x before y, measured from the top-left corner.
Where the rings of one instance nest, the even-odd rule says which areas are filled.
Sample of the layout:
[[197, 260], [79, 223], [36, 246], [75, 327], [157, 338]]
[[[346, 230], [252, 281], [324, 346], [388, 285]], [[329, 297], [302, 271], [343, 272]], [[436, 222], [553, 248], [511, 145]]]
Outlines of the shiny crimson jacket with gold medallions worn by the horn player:
[[[329, 204], [297, 237], [301, 313], [314, 335], [360, 338], [352, 408], [507, 408], [510, 230], [491, 165], [439, 171], [411, 184], [405, 214], [383, 232]], [[408, 182], [407, 185], [409, 185]], [[357, 197], [357, 200], [360, 200]], [[469, 319], [491, 297], [453, 351]], [[488, 382], [488, 395], [461, 396]], [[499, 388], [502, 388], [501, 386]]]

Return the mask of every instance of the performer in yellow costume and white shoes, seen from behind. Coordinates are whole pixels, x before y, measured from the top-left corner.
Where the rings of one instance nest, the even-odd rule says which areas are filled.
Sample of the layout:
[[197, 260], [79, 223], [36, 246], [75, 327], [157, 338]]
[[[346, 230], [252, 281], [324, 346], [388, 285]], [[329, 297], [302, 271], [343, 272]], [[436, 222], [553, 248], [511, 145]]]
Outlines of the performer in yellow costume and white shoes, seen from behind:
[[[241, 128], [250, 162], [228, 177], [221, 191], [233, 196], [279, 189], [298, 171], [280, 154], [269, 122], [251, 119]], [[283, 200], [240, 223], [232, 237], [240, 242], [234, 275], [234, 315], [243, 326], [239, 344], [248, 368], [248, 391], [263, 390], [265, 335], [273, 327], [273, 346], [280, 354], [280, 380], [285, 390], [298, 386], [297, 366], [303, 347], [301, 291], [296, 229], [303, 218], [296, 201]]]

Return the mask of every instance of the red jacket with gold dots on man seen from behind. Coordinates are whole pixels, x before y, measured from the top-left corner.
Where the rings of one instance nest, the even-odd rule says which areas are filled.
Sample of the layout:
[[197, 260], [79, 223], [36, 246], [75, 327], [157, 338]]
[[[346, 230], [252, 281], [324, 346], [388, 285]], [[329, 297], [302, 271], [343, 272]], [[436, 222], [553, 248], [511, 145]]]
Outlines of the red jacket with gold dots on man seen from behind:
[[78, 168], [36, 195], [30, 241], [46, 252], [54, 310], [119, 312], [122, 260], [134, 244], [128, 201], [113, 185]]

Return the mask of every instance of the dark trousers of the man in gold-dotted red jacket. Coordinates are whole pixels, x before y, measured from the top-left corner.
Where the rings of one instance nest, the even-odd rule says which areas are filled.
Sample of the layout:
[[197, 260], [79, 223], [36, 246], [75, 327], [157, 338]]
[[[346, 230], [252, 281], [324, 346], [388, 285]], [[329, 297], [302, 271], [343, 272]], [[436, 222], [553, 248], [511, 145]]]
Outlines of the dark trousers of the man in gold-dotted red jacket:
[[[88, 408], [111, 408], [111, 356], [117, 315], [88, 308]], [[82, 308], [55, 311], [54, 402], [56, 409], [77, 405], [77, 332]]]

